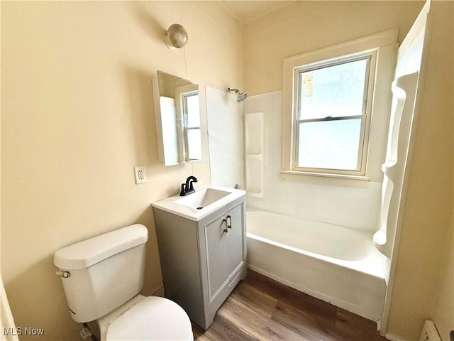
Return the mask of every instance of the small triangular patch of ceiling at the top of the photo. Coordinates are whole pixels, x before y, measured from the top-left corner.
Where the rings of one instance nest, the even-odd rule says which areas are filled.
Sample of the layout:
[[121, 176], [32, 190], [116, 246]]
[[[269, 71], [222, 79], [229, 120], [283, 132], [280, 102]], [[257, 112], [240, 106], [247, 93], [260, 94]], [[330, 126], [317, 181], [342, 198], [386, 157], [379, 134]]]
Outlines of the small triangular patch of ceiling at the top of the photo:
[[245, 24], [295, 1], [218, 1], [239, 23]]

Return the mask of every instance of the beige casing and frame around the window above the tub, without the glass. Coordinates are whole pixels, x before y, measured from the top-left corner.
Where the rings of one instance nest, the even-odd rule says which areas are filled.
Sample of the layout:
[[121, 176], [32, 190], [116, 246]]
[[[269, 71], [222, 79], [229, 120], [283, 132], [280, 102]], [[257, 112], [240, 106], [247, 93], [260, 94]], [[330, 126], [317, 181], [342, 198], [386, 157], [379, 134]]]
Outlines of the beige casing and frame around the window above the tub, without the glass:
[[[334, 45], [320, 50], [314, 50], [309, 53], [295, 55], [283, 60], [283, 112], [282, 112], [282, 170], [281, 178], [304, 180], [307, 177], [301, 175], [319, 176], [327, 178], [340, 178], [345, 180], [372, 180], [380, 181], [382, 177], [380, 165], [382, 163], [382, 154], [386, 147], [386, 141], [383, 134], [387, 129], [389, 119], [389, 80], [392, 80], [392, 72], [395, 66], [397, 55], [397, 30], [389, 30], [377, 33], [373, 36], [367, 36], [356, 40]], [[295, 167], [297, 152], [297, 98], [298, 84], [295, 69], [301, 67], [320, 67], [323, 63], [328, 65], [336, 63], [336, 60], [344, 58], [359, 58], [362, 55], [375, 55], [375, 60], [370, 63], [370, 77], [367, 82], [367, 98], [365, 126], [362, 129], [362, 156], [360, 171], [339, 171], [327, 168], [301, 168]], [[372, 77], [371, 77], [372, 75]], [[378, 84], [377, 84], [378, 83]], [[378, 114], [377, 114], [378, 112]], [[370, 139], [377, 141], [377, 146], [371, 148]], [[383, 145], [383, 146], [382, 146]], [[383, 148], [382, 148], [383, 147]], [[372, 162], [370, 162], [372, 161]], [[296, 177], [294, 175], [297, 175]], [[336, 179], [333, 179], [333, 181]], [[339, 179], [338, 179], [339, 180]], [[337, 181], [335, 183], [337, 183]], [[311, 182], [311, 181], [310, 181]], [[350, 185], [345, 183], [345, 185]], [[343, 183], [339, 183], [343, 184]], [[351, 183], [354, 185], [353, 183]]]

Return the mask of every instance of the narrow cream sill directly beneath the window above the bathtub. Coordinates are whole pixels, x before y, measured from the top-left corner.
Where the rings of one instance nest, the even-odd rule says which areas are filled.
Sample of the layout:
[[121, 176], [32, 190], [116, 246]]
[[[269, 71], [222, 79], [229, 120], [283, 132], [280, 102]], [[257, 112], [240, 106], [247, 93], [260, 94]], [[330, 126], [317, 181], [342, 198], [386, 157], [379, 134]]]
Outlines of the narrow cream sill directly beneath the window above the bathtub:
[[282, 178], [282, 180], [360, 188], [367, 188], [367, 185], [370, 180], [370, 178], [365, 175], [347, 175], [297, 171], [281, 171], [280, 173], [281, 173], [280, 177]]

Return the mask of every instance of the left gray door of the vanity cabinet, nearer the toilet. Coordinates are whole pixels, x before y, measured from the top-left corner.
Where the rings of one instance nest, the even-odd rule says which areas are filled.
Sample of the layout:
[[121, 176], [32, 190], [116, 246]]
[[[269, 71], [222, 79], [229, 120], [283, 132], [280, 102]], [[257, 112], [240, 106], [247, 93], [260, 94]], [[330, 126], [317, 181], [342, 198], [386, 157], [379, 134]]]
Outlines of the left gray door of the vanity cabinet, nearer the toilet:
[[228, 239], [226, 215], [220, 215], [204, 224], [206, 239], [206, 265], [208, 268], [209, 301], [228, 281]]

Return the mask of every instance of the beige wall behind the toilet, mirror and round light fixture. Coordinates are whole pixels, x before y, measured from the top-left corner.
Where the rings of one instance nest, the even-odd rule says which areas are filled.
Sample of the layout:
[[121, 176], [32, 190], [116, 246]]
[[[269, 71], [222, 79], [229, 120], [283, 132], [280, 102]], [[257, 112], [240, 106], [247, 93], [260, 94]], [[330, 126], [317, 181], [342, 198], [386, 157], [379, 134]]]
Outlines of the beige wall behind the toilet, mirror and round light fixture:
[[[184, 49], [162, 43], [172, 23], [187, 28]], [[157, 161], [158, 69], [199, 82], [206, 121], [205, 85], [243, 87], [240, 26], [213, 3], [1, 3], [1, 274], [16, 325], [45, 328], [43, 340], [79, 340], [55, 250], [143, 223], [149, 293], [161, 285], [151, 202], [188, 175], [209, 182], [206, 136], [205, 161]], [[148, 183], [135, 185], [138, 165]]]

